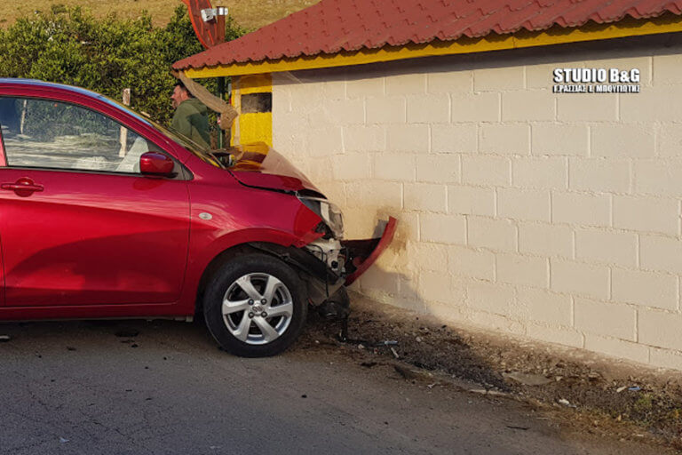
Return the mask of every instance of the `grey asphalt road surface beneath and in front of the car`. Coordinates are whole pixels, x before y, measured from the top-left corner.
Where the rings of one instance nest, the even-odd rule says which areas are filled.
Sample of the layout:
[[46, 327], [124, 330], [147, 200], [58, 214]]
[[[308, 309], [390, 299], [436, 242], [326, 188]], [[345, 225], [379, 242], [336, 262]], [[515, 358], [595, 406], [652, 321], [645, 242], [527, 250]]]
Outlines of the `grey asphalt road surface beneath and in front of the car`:
[[6, 323], [0, 334], [12, 337], [0, 343], [2, 454], [648, 451], [563, 435], [520, 403], [415, 385], [324, 344], [241, 359], [197, 323]]

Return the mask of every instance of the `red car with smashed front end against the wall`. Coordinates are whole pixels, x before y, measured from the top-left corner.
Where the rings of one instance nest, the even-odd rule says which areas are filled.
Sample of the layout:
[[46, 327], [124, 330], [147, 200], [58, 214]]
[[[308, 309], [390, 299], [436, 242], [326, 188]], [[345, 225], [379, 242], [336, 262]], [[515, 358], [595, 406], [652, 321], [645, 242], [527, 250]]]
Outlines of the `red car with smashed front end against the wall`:
[[393, 238], [344, 241], [334, 204], [265, 145], [209, 151], [80, 88], [0, 79], [0, 320], [201, 310], [235, 355], [274, 355], [309, 305]]

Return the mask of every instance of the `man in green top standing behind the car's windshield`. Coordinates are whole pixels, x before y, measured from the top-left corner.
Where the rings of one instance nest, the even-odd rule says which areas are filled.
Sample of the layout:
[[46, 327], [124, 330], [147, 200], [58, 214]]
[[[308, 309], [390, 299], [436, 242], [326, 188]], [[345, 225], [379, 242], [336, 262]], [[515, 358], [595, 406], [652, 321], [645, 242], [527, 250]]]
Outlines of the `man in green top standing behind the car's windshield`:
[[194, 98], [181, 82], [175, 85], [171, 99], [173, 108], [176, 109], [171, 127], [202, 147], [208, 148], [210, 144], [208, 108]]

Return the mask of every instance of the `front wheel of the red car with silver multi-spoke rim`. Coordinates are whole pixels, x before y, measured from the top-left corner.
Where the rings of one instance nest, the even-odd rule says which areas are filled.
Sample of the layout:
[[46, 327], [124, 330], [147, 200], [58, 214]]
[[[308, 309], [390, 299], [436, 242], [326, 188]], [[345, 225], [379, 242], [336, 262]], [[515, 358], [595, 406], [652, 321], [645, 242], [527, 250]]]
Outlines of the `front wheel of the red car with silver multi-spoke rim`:
[[206, 325], [220, 347], [242, 357], [277, 355], [303, 330], [304, 286], [280, 259], [237, 256], [218, 269], [203, 297]]

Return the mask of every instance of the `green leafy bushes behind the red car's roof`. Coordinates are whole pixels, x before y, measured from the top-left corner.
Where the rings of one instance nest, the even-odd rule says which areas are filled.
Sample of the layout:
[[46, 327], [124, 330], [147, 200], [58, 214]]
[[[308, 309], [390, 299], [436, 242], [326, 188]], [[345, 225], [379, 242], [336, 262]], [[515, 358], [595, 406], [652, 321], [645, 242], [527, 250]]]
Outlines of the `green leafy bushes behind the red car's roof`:
[[[243, 33], [227, 20], [226, 39]], [[131, 88], [133, 108], [168, 122], [176, 82], [171, 65], [202, 50], [184, 6], [168, 24], [154, 27], [147, 13], [135, 20], [96, 19], [79, 7], [55, 5], [0, 29], [0, 77], [77, 85], [115, 100]], [[210, 81], [210, 90], [215, 84]]]

